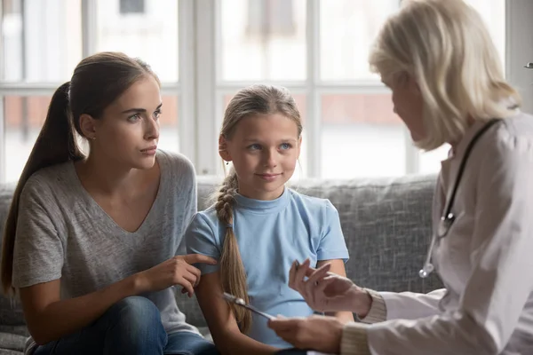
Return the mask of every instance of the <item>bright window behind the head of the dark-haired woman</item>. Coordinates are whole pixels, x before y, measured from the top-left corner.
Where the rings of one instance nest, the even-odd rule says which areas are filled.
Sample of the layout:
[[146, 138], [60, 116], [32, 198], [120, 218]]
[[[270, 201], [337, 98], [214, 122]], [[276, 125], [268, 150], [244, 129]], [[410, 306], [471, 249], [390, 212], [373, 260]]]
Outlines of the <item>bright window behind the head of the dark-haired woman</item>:
[[[163, 81], [160, 147], [179, 151], [178, 0], [85, 4], [93, 6], [83, 6], [82, 0], [3, 3], [0, 181], [20, 176], [53, 91], [70, 79], [84, 51], [124, 51], [151, 65]], [[91, 21], [97, 26], [91, 27]]]

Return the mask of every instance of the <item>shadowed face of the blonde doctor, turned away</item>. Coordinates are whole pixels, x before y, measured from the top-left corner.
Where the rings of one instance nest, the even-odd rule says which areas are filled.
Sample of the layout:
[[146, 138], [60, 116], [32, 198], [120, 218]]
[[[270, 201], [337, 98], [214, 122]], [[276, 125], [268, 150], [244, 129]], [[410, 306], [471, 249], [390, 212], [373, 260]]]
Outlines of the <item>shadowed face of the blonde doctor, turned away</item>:
[[413, 141], [426, 138], [423, 122], [424, 103], [418, 83], [407, 74], [382, 78], [382, 82], [393, 91], [394, 113], [400, 116], [410, 130]]

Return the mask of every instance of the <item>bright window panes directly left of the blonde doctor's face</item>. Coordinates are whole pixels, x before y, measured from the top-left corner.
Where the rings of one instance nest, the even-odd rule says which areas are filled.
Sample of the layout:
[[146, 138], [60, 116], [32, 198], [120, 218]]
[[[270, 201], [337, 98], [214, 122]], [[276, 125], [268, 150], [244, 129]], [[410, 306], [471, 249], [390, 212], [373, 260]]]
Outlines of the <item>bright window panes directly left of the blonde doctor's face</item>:
[[368, 64], [370, 45], [399, 2], [321, 0], [319, 6], [320, 176], [402, 175], [404, 128]]

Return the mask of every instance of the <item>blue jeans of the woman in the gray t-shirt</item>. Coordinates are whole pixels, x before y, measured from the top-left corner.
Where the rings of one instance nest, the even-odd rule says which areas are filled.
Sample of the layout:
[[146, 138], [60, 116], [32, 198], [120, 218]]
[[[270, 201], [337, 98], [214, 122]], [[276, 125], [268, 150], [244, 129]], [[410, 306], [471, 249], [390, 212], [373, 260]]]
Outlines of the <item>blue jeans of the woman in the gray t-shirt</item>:
[[141, 296], [126, 297], [81, 331], [37, 347], [34, 355], [215, 355], [215, 345], [191, 332], [168, 334], [159, 310]]

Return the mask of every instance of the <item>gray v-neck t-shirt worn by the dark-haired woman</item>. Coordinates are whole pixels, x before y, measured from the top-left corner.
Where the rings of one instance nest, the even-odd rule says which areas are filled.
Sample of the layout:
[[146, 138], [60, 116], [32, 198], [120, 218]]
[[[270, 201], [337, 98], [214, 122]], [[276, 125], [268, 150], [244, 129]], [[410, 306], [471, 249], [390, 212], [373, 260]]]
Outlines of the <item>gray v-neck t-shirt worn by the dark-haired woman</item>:
[[[61, 298], [84, 296], [184, 254], [183, 234], [196, 212], [195, 169], [180, 154], [157, 151], [161, 177], [147, 217], [130, 233], [99, 207], [73, 162], [37, 171], [20, 195], [12, 284], [61, 280]], [[197, 329], [179, 312], [174, 290], [143, 294], [167, 333]]]

